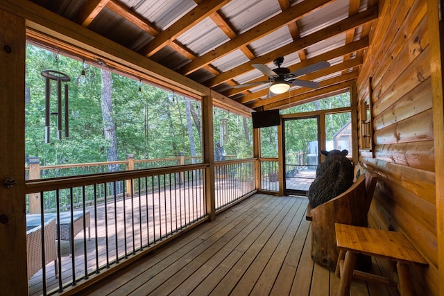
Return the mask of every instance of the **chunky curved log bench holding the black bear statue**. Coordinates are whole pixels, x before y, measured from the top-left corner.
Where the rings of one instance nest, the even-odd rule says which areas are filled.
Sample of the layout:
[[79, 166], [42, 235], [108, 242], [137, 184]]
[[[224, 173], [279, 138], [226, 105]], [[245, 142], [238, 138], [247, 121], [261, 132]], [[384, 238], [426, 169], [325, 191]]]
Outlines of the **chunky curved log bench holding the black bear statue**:
[[[367, 179], [367, 181], [366, 181]], [[361, 175], [350, 188], [318, 207], [307, 208], [311, 220], [311, 258], [318, 265], [332, 271], [336, 268], [339, 250], [336, 247], [334, 223], [367, 226], [367, 213], [373, 198], [377, 177], [371, 173]], [[366, 268], [368, 259], [358, 259], [359, 268]]]

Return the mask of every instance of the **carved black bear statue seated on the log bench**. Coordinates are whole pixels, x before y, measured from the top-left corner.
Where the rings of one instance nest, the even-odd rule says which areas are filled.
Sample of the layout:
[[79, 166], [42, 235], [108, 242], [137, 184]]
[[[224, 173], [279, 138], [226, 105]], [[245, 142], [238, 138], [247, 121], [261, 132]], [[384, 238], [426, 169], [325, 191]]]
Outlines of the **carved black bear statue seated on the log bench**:
[[346, 191], [353, 184], [353, 165], [345, 157], [348, 150], [321, 150], [325, 161], [319, 164], [307, 196], [311, 207], [318, 207]]

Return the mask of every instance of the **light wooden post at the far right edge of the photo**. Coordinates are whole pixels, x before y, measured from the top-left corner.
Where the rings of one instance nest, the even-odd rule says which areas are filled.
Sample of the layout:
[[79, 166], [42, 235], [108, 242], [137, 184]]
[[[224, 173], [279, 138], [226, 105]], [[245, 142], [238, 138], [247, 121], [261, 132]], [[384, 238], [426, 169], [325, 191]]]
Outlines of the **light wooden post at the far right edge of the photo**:
[[[436, 236], [438, 241], [438, 275], [444, 279], [444, 21], [440, 19], [444, 8], [436, 0], [427, 0], [427, 19], [430, 40], [430, 74], [432, 80], [435, 192], [436, 192]], [[438, 294], [444, 295], [444, 281], [438, 281]]]

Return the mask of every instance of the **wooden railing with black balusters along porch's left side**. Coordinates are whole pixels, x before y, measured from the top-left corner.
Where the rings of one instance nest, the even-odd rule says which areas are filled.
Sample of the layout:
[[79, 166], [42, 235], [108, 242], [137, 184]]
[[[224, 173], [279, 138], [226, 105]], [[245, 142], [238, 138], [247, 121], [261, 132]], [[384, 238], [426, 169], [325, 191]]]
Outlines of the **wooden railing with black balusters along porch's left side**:
[[[35, 199], [33, 207], [42, 213], [39, 215], [42, 222], [52, 215], [58, 225], [59, 278], [54, 277], [53, 264], [43, 265], [30, 279], [31, 294], [62, 292], [207, 220], [209, 207], [221, 211], [248, 197], [255, 192], [256, 161], [216, 162], [214, 202], [205, 195], [205, 172], [209, 164], [27, 180], [26, 194], [30, 201]], [[129, 163], [126, 168], [132, 167]], [[30, 164], [30, 176], [33, 169]], [[62, 216], [73, 218], [63, 222]], [[80, 220], [74, 221], [75, 216]], [[60, 227], [63, 223], [75, 224], [67, 227], [75, 231], [64, 234], [65, 226]]]

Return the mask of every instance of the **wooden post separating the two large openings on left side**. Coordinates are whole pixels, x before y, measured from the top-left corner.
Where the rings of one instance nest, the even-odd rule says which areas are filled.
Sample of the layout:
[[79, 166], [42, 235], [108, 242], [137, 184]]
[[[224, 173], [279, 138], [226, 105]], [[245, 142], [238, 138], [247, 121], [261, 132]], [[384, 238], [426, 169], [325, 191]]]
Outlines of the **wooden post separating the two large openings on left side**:
[[210, 221], [216, 218], [216, 189], [214, 186], [214, 139], [213, 135], [213, 98], [202, 98], [203, 162], [210, 164], [205, 170], [205, 202]]

